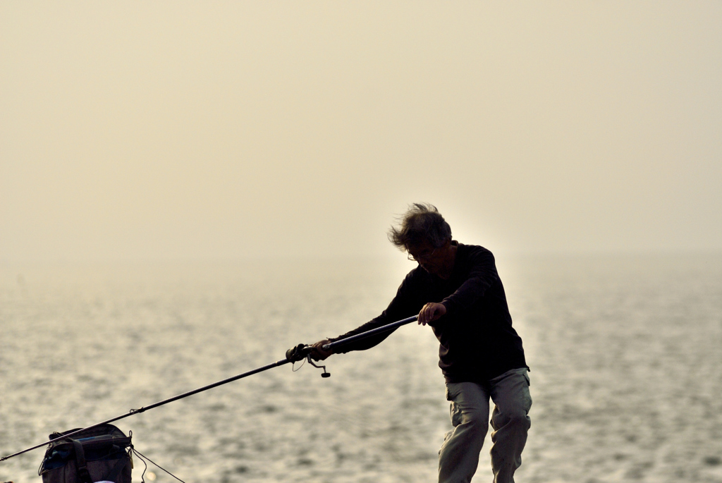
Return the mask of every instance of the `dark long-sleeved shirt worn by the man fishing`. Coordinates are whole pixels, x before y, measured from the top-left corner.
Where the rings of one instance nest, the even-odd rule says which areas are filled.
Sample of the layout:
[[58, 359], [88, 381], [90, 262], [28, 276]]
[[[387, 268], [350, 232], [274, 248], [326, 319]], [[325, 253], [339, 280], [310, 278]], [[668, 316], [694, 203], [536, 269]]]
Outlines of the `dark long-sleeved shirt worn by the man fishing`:
[[[439, 367], [446, 382], [485, 383], [510, 369], [527, 367], [521, 338], [511, 326], [494, 256], [476, 245], [458, 243], [447, 280], [417, 266], [406, 275], [396, 297], [380, 316], [331, 340], [414, 316], [430, 302], [446, 307], [445, 315], [429, 324], [439, 341]], [[339, 352], [370, 349], [391, 332], [350, 342]]]

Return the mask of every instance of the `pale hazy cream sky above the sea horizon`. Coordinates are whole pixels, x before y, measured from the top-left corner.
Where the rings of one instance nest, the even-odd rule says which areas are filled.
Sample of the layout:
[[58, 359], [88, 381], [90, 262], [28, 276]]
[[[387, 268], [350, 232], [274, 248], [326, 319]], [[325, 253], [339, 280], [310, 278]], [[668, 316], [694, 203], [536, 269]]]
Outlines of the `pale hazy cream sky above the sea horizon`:
[[722, 251], [721, 1], [0, 2], [0, 261]]

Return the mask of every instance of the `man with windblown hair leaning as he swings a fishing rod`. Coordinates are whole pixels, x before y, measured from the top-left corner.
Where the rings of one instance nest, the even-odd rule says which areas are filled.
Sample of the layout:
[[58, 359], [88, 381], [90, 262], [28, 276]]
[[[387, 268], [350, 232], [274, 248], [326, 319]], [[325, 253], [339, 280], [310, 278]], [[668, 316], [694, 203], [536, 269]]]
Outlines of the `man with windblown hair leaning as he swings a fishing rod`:
[[[413, 204], [392, 227], [389, 240], [418, 266], [401, 283], [380, 316], [347, 334], [313, 344], [312, 356], [326, 359], [323, 344], [345, 339], [419, 314], [439, 340], [439, 367], [451, 401], [453, 430], [439, 451], [439, 483], [468, 483], [479, 464], [492, 413], [492, 471], [495, 483], [512, 483], [531, 425], [529, 367], [521, 338], [511, 326], [504, 287], [494, 256], [486, 248], [451, 239], [451, 227], [430, 204]], [[391, 332], [345, 345], [365, 350]]]

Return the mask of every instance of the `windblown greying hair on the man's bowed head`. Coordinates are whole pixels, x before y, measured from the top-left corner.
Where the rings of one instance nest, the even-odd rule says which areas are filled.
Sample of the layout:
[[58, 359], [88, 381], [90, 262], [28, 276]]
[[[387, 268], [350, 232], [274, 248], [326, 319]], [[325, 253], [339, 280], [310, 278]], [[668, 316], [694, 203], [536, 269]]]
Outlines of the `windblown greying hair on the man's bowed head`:
[[399, 217], [399, 227], [388, 230], [388, 240], [402, 250], [425, 241], [440, 248], [449, 239], [451, 227], [436, 206], [428, 203], [409, 205], [408, 211]]

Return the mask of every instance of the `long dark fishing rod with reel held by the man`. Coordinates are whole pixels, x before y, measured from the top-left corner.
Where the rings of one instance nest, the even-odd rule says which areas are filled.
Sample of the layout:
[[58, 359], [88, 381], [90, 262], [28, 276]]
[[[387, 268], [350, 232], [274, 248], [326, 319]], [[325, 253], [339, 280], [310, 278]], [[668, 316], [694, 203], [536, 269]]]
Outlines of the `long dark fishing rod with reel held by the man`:
[[[378, 328], [374, 328], [374, 329], [372, 329], [372, 330], [370, 330], [370, 331], [362, 332], [361, 334], [357, 334], [357, 335], [355, 335], [355, 336], [348, 337], [347, 339], [342, 339], [342, 340], [340, 340], [340, 341], [332, 342], [331, 344], [324, 344], [324, 345], [323, 345], [323, 350], [329, 350], [328, 348], [339, 347], [339, 345], [341, 345], [340, 343], [342, 343], [342, 342], [348, 343], [348, 342], [350, 342], [350, 341], [356, 341], [356, 340], [359, 340], [359, 339], [365, 339], [366, 337], [374, 336], [374, 335], [379, 334], [379, 333], [381, 333], [381, 332], [391, 331], [391, 330], [395, 329], [396, 327], [400, 327], [400, 326], [402, 326], [402, 325], [404, 325], [404, 324], [406, 324], [406, 323], [413, 322], [413, 321], [415, 321], [417, 318], [418, 318], [418, 316], [405, 318], [403, 321], [398, 321], [398, 322], [389, 323], [389, 324], [386, 325], [386, 326], [381, 326], [381, 327], [378, 327]], [[222, 385], [227, 384], [227, 383], [232, 383], [234, 380], [246, 378], [246, 377], [248, 377], [249, 375], [262, 373], [262, 372], [264, 372], [264, 370], [269, 370], [269, 369], [272, 369], [272, 368], [274, 368], [274, 367], [279, 367], [279, 366], [281, 366], [281, 365], [288, 364], [289, 362], [299, 362], [299, 361], [301, 361], [301, 360], [307, 359], [308, 362], [310, 363], [310, 365], [313, 365], [313, 367], [317, 367], [318, 369], [323, 369], [323, 373], [321, 374], [321, 377], [323, 377], [323, 378], [329, 378], [329, 377], [331, 377], [331, 373], [327, 373], [327, 372], [326, 372], [326, 366], [325, 366], [325, 365], [316, 365], [316, 364], [313, 363], [313, 361], [311, 360], [311, 352], [312, 352], [312, 351], [313, 351], [313, 347], [311, 347], [311, 346], [309, 346], [309, 345], [305, 345], [305, 344], [298, 344], [296, 347], [292, 347], [291, 349], [288, 349], [288, 350], [286, 351], [286, 358], [285, 358], [285, 359], [277, 360], [276, 362], [272, 362], [272, 363], [269, 364], [269, 365], [264, 365], [264, 366], [261, 366], [261, 367], [256, 367], [256, 369], [249, 370], [249, 371], [247, 371], [247, 372], [245, 372], [245, 373], [241, 373], [241, 374], [238, 374], [238, 375], [234, 375], [234, 376], [232, 376], [232, 377], [230, 377], [230, 378], [227, 378], [227, 379], [219, 380], [219, 381], [217, 381], [217, 382], [215, 382], [215, 383], [209, 384], [209, 385], [207, 385], [207, 386], [203, 386], [203, 387], [201, 387], [201, 388], [193, 389], [193, 391], [188, 391], [188, 392], [185, 392], [185, 393], [178, 394], [178, 396], [173, 396], [172, 398], [163, 399], [162, 401], [158, 401], [157, 403], [150, 404], [149, 406], [142, 406], [142, 407], [139, 408], [139, 409], [131, 409], [131, 410], [130, 410], [129, 412], [127, 412], [126, 414], [121, 414], [120, 416], [116, 416], [116, 417], [112, 417], [112, 418], [110, 418], [110, 419], [106, 419], [106, 420], [103, 421], [103, 422], [98, 422], [98, 423], [96, 423], [95, 425], [91, 425], [91, 426], [84, 427], [84, 428], [79, 429], [79, 430], [75, 430], [75, 431], [72, 431], [72, 432], [68, 432], [68, 433], [66, 433], [66, 434], [64, 434], [64, 435], [59, 436], [58, 438], [45, 441], [45, 443], [40, 443], [39, 445], [32, 446], [31, 448], [27, 448], [27, 449], [24, 449], [24, 450], [22, 450], [22, 451], [18, 451], [17, 453], [12, 453], [12, 455], [3, 456], [2, 458], [0, 458], [0, 461], [5, 461], [6, 459], [13, 458], [14, 456], [18, 456], [18, 455], [21, 455], [21, 454], [23, 454], [23, 453], [27, 453], [28, 451], [32, 451], [32, 450], [41, 448], [41, 447], [43, 447], [43, 446], [47, 446], [47, 445], [49, 445], [49, 444], [51, 444], [51, 443], [55, 443], [56, 441], [59, 441], [59, 440], [66, 440], [66, 439], [68, 439], [68, 438], [71, 438], [71, 437], [74, 436], [74, 435], [79, 434], [80, 432], [84, 432], [84, 431], [86, 431], [86, 430], [90, 430], [90, 429], [92, 429], [92, 428], [94, 428], [94, 427], [98, 427], [98, 426], [102, 426], [102, 425], [108, 425], [108, 424], [110, 424], [111, 422], [116, 422], [116, 421], [118, 421], [118, 420], [120, 420], [120, 419], [125, 419], [126, 417], [131, 417], [131, 416], [133, 416], [134, 414], [140, 414], [140, 413], [142, 413], [142, 412], [146, 412], [146, 411], [148, 411], [149, 409], [154, 409], [154, 408], [157, 408], [157, 407], [159, 407], [159, 406], [163, 406], [163, 405], [165, 405], [165, 404], [171, 403], [171, 402], [173, 402], [173, 401], [178, 401], [178, 399], [184, 399], [184, 398], [187, 398], [188, 396], [193, 396], [193, 394], [201, 393], [201, 392], [203, 392], [203, 391], [208, 391], [209, 389], [217, 388], [218, 386], [222, 386]]]

